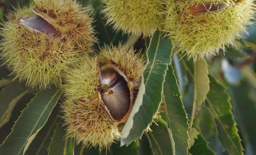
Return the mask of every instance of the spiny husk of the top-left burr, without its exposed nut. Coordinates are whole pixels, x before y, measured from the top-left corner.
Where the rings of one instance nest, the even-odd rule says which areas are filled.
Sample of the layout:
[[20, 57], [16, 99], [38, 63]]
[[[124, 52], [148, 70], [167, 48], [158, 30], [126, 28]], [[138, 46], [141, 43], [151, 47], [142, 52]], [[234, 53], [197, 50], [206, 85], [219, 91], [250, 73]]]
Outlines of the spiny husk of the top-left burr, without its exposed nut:
[[[36, 15], [53, 26], [58, 35], [27, 27], [26, 19]], [[35, 0], [35, 6], [9, 14], [9, 21], [0, 29], [0, 57], [13, 71], [14, 79], [26, 81], [27, 86], [59, 86], [67, 68], [92, 52], [90, 47], [97, 39], [91, 24], [92, 18], [75, 1]]]

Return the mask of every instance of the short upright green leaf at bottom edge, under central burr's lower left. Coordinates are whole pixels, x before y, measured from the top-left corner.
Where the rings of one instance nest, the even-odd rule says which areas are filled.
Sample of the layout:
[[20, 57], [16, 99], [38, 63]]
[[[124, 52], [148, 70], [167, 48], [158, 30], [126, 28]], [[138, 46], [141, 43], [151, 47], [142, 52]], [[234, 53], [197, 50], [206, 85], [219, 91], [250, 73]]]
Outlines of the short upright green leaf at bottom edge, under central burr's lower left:
[[54, 130], [52, 141], [49, 146], [48, 155], [73, 155], [74, 153], [74, 138], [65, 138], [66, 132], [62, 127], [63, 120], [61, 119]]

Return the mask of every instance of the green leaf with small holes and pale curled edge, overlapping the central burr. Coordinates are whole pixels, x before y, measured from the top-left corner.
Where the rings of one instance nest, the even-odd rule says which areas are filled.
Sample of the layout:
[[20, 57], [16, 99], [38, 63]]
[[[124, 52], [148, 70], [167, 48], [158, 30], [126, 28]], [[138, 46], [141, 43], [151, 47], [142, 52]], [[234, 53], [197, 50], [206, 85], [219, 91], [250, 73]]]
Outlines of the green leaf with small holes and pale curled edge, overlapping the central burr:
[[[140, 138], [149, 124], [152, 123], [162, 101], [164, 75], [168, 69], [168, 64], [171, 62], [171, 49], [171, 40], [166, 37], [163, 38], [161, 31], [157, 30], [153, 34], [147, 50], [148, 63], [143, 73], [145, 94], [143, 95], [142, 105], [139, 110], [133, 108], [131, 111], [133, 113], [138, 110], [134, 116], [129, 116], [124, 126], [121, 133], [122, 146]], [[134, 107], [136, 107], [136, 102]]]

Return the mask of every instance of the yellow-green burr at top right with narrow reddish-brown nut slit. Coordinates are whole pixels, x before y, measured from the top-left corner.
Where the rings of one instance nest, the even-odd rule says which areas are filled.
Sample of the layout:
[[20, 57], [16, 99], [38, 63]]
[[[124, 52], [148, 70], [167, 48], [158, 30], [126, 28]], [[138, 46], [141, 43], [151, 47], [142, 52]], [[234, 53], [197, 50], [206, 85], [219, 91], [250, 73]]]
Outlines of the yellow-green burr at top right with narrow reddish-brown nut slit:
[[173, 45], [194, 60], [235, 45], [235, 39], [247, 33], [255, 13], [251, 0], [169, 0], [166, 5], [165, 29]]

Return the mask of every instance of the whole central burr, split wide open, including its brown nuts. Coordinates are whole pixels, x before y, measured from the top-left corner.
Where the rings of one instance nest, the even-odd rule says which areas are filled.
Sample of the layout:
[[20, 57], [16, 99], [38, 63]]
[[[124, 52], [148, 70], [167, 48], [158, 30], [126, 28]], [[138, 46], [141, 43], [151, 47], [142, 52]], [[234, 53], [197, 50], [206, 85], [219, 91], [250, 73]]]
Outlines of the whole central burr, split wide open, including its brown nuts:
[[123, 45], [101, 48], [99, 55], [70, 68], [61, 105], [67, 137], [86, 147], [109, 149], [120, 140], [140, 88], [145, 61]]

